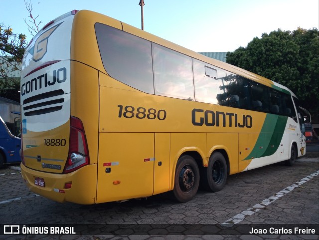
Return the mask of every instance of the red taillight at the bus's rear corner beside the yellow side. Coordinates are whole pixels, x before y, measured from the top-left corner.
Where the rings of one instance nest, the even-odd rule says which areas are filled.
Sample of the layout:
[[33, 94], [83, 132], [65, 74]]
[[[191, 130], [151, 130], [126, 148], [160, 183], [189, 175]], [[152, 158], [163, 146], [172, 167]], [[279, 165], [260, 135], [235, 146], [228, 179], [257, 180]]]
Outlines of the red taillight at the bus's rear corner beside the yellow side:
[[88, 164], [89, 151], [82, 121], [71, 117], [69, 154], [63, 173], [73, 172]]

